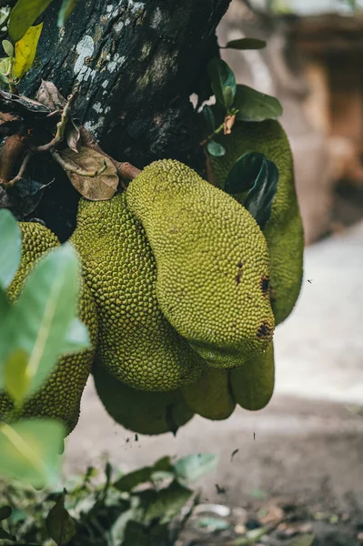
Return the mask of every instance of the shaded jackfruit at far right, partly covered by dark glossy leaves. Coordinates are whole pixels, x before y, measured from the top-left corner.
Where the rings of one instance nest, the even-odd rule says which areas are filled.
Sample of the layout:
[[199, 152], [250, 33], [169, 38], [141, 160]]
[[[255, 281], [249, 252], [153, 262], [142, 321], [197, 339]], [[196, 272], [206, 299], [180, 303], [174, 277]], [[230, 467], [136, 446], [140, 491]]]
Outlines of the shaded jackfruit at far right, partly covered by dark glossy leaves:
[[[275, 120], [237, 122], [230, 135], [217, 140], [226, 148], [225, 156], [210, 157], [218, 187], [224, 187], [238, 157], [248, 152], [264, 154], [278, 169], [277, 194], [264, 229], [271, 260], [271, 305], [277, 325], [287, 319], [294, 308], [303, 277], [304, 232], [287, 135]], [[246, 193], [234, 197], [243, 204]]]

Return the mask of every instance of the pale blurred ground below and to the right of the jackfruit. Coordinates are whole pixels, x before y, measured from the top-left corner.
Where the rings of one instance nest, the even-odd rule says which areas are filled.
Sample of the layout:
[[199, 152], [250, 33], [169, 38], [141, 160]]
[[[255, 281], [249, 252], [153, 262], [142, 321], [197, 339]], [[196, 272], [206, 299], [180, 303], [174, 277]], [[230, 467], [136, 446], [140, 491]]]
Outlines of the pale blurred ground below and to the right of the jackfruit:
[[[277, 329], [277, 387], [266, 410], [237, 410], [221, 422], [195, 418], [176, 438], [136, 440], [108, 418], [91, 379], [79, 425], [67, 440], [65, 471], [84, 470], [105, 452], [126, 470], [165, 454], [213, 452], [219, 464], [200, 482], [203, 501], [256, 514], [261, 502], [287, 503], [300, 512], [296, 521], [318, 530], [314, 546], [358, 544], [363, 531], [362, 250], [363, 222], [307, 248], [297, 308]], [[319, 514], [328, 514], [328, 521]], [[287, 544], [281, 529], [274, 536], [264, 543]]]

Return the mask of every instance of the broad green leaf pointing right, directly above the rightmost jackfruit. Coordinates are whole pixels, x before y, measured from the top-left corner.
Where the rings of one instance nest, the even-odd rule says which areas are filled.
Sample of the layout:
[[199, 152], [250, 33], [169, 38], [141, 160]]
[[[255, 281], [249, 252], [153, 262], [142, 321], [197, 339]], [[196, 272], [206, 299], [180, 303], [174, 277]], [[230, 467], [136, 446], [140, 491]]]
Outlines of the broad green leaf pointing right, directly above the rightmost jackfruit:
[[242, 121], [276, 119], [282, 114], [282, 106], [275, 96], [264, 95], [248, 86], [237, 86], [233, 106], [238, 109], [237, 119]]

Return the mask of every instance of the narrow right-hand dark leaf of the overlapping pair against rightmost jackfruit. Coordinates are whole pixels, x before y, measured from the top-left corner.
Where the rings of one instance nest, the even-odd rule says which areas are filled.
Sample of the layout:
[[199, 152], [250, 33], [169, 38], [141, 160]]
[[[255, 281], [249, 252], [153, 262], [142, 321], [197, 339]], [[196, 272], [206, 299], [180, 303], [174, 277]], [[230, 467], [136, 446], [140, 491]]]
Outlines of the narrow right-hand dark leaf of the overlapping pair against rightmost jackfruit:
[[255, 218], [261, 229], [265, 229], [277, 192], [278, 169], [272, 161], [264, 159], [254, 186], [247, 194], [244, 207]]

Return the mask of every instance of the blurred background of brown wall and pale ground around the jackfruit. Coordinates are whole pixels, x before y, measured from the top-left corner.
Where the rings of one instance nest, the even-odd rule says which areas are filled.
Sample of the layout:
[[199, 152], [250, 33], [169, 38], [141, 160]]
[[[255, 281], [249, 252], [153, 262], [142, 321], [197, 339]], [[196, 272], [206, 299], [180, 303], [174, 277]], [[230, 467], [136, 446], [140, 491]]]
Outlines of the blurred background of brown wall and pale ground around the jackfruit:
[[258, 495], [305, 502], [350, 521], [348, 531], [330, 524], [314, 544], [363, 543], [359, 5], [363, 10], [363, 1], [233, 0], [218, 28], [220, 45], [241, 36], [267, 40], [263, 50], [222, 54], [238, 83], [277, 96], [284, 106], [305, 226], [305, 277], [297, 307], [276, 332], [271, 403], [257, 413], [236, 410], [227, 421], [196, 417], [176, 438], [147, 438], [113, 423], [91, 379], [76, 434], [67, 440], [66, 473], [106, 452], [130, 470], [166, 454], [217, 453], [216, 472], [201, 482], [203, 500], [239, 507]]

